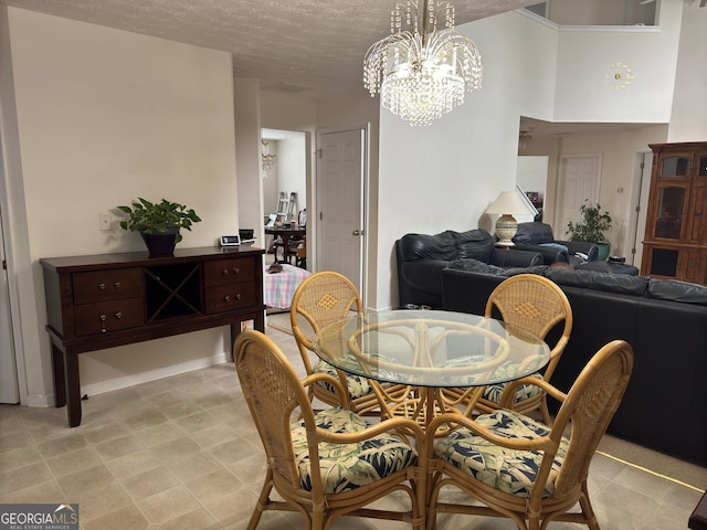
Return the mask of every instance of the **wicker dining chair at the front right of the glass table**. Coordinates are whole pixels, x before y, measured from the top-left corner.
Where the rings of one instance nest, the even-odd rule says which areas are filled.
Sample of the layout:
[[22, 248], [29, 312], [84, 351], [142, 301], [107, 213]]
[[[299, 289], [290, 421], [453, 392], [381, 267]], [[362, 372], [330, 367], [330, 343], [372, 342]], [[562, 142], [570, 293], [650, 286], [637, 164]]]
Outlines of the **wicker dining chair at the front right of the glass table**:
[[[631, 346], [614, 340], [592, 357], [567, 394], [529, 377], [508, 384], [504, 409], [475, 421], [453, 413], [435, 417], [426, 432], [428, 530], [439, 513], [506, 517], [524, 530], [545, 529], [550, 521], [599, 530], [587, 488], [589, 465], [632, 368]], [[561, 403], [551, 427], [507, 409], [523, 384], [537, 384]], [[452, 433], [435, 438], [445, 426]], [[461, 489], [475, 505], [440, 501], [445, 486]]]

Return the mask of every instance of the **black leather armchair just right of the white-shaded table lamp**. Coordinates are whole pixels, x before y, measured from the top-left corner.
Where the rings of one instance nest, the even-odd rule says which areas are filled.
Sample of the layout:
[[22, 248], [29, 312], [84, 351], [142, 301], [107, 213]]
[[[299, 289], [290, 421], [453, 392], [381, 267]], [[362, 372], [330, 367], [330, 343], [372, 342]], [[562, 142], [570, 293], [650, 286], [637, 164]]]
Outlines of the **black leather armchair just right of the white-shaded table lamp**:
[[[547, 223], [518, 223], [518, 232], [513, 242], [519, 251], [542, 254], [546, 265], [564, 262], [576, 267], [583, 262], [593, 262], [599, 258], [599, 247], [594, 243], [556, 240], [552, 226]], [[580, 255], [587, 257], [580, 257]]]

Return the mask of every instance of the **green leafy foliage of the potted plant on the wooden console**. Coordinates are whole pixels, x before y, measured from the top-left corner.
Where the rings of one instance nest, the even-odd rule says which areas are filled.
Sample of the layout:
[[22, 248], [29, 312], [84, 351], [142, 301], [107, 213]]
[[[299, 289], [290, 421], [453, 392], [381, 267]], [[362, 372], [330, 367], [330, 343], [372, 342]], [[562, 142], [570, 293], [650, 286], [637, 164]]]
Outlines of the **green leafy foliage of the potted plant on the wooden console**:
[[[152, 203], [138, 197], [137, 201], [133, 201], [131, 206], [116, 208], [129, 215], [127, 221], [120, 221], [122, 229], [145, 234], [167, 233], [175, 226], [191, 231], [191, 225], [201, 221], [192, 209], [167, 199]], [[177, 233], [176, 243], [181, 240], [181, 234]]]

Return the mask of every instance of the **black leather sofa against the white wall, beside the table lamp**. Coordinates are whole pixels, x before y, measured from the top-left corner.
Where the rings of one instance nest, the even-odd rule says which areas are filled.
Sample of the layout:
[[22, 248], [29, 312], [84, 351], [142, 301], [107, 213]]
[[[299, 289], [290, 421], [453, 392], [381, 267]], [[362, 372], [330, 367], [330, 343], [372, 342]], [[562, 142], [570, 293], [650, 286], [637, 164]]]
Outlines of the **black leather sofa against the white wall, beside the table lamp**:
[[395, 241], [400, 307], [442, 308], [442, 271], [453, 259], [475, 259], [502, 267], [539, 265], [537, 252], [495, 248], [485, 230], [447, 230], [440, 234], [405, 234]]

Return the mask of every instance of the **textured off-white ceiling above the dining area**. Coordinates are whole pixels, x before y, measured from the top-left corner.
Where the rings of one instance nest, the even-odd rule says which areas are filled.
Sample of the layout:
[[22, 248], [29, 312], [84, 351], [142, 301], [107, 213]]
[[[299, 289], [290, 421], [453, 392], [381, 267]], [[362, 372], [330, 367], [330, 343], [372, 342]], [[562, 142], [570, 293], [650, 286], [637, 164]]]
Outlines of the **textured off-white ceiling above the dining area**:
[[[400, 0], [398, 0], [400, 1]], [[456, 23], [539, 0], [456, 0]], [[55, 17], [230, 52], [234, 75], [302, 95], [362, 88], [363, 55], [394, 0], [0, 0]], [[482, 51], [483, 52], [483, 51]]]

